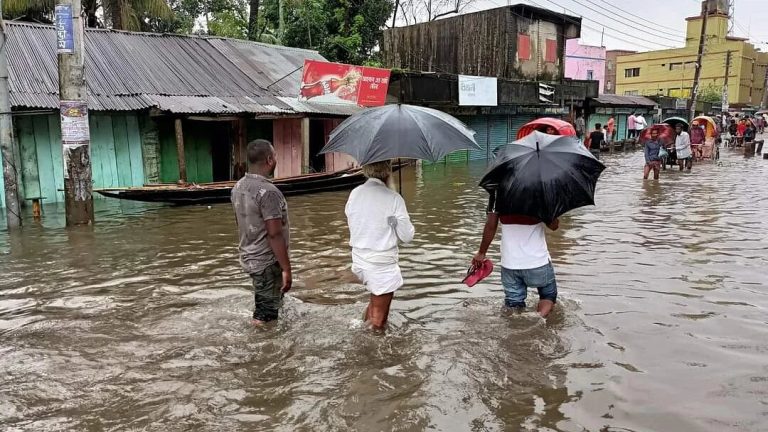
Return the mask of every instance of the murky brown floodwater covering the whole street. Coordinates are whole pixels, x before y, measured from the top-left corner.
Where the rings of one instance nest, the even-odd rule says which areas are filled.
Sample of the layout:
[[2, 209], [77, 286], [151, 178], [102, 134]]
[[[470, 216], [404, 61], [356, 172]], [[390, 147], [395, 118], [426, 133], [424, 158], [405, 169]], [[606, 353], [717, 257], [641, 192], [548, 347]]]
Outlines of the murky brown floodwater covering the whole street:
[[641, 153], [604, 159], [597, 206], [549, 236], [546, 322], [502, 309], [498, 272], [459, 282], [483, 165], [406, 174], [417, 237], [385, 335], [360, 322], [345, 192], [289, 199], [296, 283], [267, 329], [229, 206], [100, 201], [73, 230], [46, 209], [0, 232], [0, 429], [768, 430], [768, 161], [644, 183]]

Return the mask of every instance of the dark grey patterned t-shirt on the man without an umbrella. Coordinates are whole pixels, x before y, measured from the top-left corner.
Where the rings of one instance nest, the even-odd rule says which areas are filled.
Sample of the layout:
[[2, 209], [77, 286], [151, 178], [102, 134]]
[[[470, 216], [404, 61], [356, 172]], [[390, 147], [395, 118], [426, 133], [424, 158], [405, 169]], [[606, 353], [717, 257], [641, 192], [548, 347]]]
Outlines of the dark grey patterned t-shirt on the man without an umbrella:
[[240, 232], [240, 265], [248, 274], [261, 273], [277, 262], [269, 245], [266, 221], [282, 220], [285, 246], [288, 247], [288, 203], [282, 192], [265, 177], [246, 174], [232, 188], [232, 205]]

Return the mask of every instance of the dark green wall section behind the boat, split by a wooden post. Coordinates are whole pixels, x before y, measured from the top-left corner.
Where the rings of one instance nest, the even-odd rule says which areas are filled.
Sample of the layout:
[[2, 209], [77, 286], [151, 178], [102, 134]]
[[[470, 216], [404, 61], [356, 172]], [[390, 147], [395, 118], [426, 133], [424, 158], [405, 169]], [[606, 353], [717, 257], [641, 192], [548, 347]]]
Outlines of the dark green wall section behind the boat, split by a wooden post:
[[[213, 124], [205, 122], [182, 122], [187, 181], [191, 183], [213, 181], [211, 142], [216, 128], [212, 126]], [[160, 140], [160, 182], [176, 183], [179, 180], [179, 159], [176, 155], [176, 132], [173, 120], [157, 120], [157, 128]]]

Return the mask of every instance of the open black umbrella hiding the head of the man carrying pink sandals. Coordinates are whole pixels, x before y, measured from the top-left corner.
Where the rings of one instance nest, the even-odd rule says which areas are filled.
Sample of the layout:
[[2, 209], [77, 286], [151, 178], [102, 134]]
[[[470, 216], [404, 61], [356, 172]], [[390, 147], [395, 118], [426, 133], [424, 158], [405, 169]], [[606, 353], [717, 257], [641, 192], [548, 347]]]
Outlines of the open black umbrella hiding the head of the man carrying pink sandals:
[[533, 132], [504, 146], [480, 181], [496, 193], [501, 214], [550, 223], [595, 204], [595, 184], [605, 166], [575, 137]]

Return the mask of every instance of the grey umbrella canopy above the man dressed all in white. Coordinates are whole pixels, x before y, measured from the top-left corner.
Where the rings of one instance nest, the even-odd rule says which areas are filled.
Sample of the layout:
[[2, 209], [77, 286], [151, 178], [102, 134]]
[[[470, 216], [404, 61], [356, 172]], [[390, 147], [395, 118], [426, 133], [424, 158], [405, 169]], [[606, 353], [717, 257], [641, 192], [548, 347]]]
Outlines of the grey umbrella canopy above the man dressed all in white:
[[436, 162], [456, 150], [479, 150], [475, 132], [450, 115], [413, 105], [363, 110], [331, 132], [320, 153], [346, 153], [360, 164], [396, 158]]

